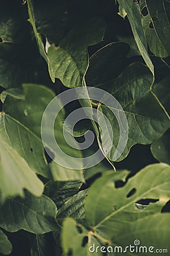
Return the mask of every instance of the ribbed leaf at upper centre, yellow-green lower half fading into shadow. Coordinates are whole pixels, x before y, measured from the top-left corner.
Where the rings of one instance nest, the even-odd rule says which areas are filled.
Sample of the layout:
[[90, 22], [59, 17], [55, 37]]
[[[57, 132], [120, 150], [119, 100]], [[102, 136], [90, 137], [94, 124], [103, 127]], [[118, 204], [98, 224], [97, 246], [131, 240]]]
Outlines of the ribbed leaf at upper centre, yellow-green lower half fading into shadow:
[[48, 49], [54, 77], [67, 87], [82, 86], [88, 68], [87, 47], [99, 43], [104, 36], [105, 24], [99, 18], [90, 19], [74, 27], [69, 34]]

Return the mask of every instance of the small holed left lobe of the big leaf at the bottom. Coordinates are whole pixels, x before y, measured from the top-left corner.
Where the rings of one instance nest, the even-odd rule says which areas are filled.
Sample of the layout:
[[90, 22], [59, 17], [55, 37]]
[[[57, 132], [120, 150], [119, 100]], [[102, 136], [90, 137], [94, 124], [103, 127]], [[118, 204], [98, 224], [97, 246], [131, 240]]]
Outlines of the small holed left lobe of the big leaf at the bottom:
[[[89, 251], [89, 247], [94, 243], [96, 246], [101, 246], [101, 244], [89, 233], [90, 232], [88, 232], [82, 225], [76, 224], [75, 220], [67, 218], [63, 223], [61, 234], [63, 255], [90, 256], [91, 252]], [[103, 254], [99, 251], [93, 255], [101, 256]]]

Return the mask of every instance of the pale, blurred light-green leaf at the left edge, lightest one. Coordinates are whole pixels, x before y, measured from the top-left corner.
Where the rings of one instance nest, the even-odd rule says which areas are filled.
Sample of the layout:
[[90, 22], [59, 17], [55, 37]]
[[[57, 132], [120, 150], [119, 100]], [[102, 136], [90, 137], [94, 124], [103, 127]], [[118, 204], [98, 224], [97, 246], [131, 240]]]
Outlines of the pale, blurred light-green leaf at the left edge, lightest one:
[[[0, 120], [1, 125], [3, 117]], [[44, 184], [18, 152], [4, 141], [3, 130], [1, 130], [0, 138], [0, 189], [2, 195], [24, 196], [24, 188], [36, 196], [42, 195]]]

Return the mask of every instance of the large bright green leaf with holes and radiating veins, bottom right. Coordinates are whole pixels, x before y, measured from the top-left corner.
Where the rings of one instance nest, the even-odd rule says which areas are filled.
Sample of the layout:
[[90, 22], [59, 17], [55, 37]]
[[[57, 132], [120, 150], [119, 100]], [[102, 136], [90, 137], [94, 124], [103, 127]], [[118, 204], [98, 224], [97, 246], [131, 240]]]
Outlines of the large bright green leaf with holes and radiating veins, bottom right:
[[[83, 256], [90, 255], [90, 246], [94, 255], [100, 255], [108, 246], [110, 252], [112, 247], [113, 255], [114, 252], [119, 255], [117, 246], [125, 250], [126, 246], [133, 246], [135, 240], [139, 240], [141, 246], [154, 246], [155, 250], [169, 249], [170, 214], [160, 211], [170, 197], [170, 167], [152, 164], [117, 188], [116, 182], [125, 182], [128, 174], [128, 171], [107, 172], [92, 184], [86, 198], [88, 229], [70, 218], [63, 222], [64, 255], [76, 256], [79, 251]], [[146, 199], [158, 201], [142, 207], [138, 202]], [[126, 254], [132, 255], [129, 250]], [[138, 251], [135, 255], [139, 255]]]

